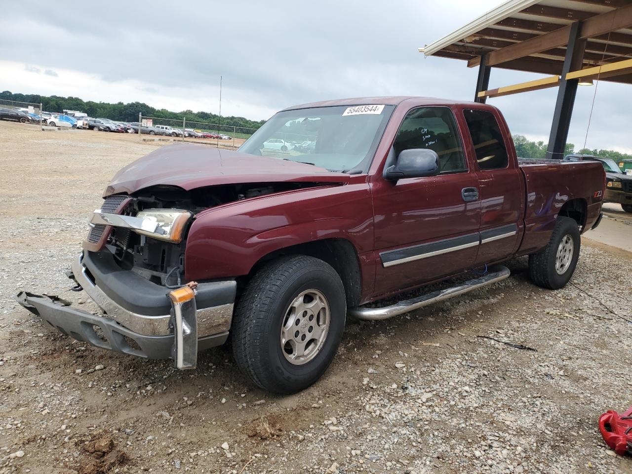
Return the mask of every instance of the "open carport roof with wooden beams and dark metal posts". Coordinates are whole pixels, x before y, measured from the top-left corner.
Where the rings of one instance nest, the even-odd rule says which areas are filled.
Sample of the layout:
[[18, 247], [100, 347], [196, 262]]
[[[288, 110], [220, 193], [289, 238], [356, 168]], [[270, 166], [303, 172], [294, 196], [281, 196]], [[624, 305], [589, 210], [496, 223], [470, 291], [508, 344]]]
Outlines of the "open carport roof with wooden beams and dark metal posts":
[[[509, 0], [446, 37], [425, 56], [478, 66], [474, 100], [559, 87], [549, 158], [561, 159], [579, 83], [632, 83], [632, 0]], [[492, 68], [546, 78], [489, 89]]]

